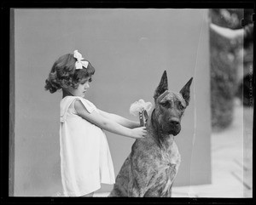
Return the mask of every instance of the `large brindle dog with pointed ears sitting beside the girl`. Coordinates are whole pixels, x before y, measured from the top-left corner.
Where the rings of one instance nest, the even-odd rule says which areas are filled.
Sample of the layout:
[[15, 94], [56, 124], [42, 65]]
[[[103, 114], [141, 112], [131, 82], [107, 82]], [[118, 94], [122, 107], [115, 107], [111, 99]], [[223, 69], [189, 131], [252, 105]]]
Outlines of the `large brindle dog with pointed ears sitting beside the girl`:
[[171, 196], [180, 164], [174, 136], [181, 130], [181, 117], [189, 105], [192, 79], [179, 94], [172, 93], [164, 71], [154, 93], [154, 110], [146, 124], [148, 134], [132, 145], [109, 196]]

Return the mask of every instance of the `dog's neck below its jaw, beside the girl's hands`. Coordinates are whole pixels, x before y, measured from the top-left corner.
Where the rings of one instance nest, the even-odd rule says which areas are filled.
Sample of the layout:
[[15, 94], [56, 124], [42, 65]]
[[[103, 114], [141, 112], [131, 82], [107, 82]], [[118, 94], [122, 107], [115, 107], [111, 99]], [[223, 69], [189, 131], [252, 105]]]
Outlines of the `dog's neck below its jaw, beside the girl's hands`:
[[152, 111], [151, 116], [148, 117], [147, 130], [149, 135], [154, 138], [154, 141], [160, 148], [168, 149], [173, 141], [174, 136], [172, 134], [166, 134], [158, 124], [157, 118], [155, 117], [155, 110]]

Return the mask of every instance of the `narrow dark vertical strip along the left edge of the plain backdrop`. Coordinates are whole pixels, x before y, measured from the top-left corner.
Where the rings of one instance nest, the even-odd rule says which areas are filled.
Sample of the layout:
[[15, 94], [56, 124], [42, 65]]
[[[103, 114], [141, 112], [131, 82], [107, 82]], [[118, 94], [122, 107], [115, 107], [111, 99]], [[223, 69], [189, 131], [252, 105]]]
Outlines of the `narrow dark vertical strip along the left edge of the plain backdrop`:
[[9, 196], [15, 195], [15, 9], [9, 15]]

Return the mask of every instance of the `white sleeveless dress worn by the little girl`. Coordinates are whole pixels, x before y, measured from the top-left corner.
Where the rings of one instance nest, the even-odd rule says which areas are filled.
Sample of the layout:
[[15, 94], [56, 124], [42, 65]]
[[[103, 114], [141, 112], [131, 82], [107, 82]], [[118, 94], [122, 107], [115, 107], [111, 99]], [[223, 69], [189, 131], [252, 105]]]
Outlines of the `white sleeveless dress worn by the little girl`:
[[75, 100], [80, 100], [89, 113], [97, 111], [89, 100], [78, 96], [61, 100], [60, 154], [64, 196], [83, 196], [100, 189], [101, 183], [115, 182], [106, 135], [101, 128], [79, 117], [74, 109]]

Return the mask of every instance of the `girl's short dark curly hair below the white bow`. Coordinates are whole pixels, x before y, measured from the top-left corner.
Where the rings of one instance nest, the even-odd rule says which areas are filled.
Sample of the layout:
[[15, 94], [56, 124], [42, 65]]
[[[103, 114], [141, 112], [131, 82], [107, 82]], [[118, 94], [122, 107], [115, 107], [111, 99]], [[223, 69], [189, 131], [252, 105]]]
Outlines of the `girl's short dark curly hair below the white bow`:
[[95, 68], [88, 64], [87, 68], [75, 69], [76, 59], [73, 54], [64, 54], [55, 61], [52, 66], [49, 77], [45, 80], [45, 90], [49, 90], [51, 94], [61, 88], [72, 86], [78, 88], [79, 83], [84, 77], [91, 77]]

